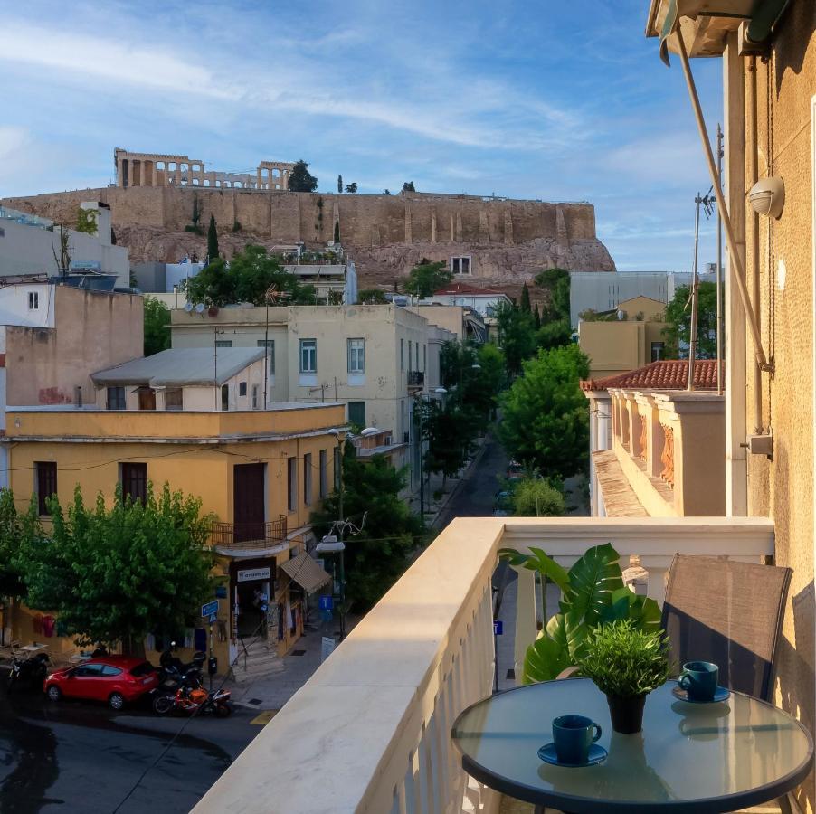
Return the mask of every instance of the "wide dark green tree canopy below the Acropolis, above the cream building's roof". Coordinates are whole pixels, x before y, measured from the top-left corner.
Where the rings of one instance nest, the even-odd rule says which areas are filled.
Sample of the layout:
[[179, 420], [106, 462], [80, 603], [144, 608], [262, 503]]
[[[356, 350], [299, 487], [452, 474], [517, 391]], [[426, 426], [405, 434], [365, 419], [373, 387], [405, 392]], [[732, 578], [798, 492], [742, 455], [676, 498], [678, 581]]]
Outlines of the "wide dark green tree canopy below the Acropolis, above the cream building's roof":
[[248, 244], [227, 262], [219, 258], [205, 266], [186, 282], [187, 298], [208, 306], [232, 305], [236, 302], [265, 303], [266, 291], [274, 285], [289, 298], [270, 305], [314, 305], [315, 288], [303, 285], [289, 274], [280, 257], [269, 254], [263, 246]]

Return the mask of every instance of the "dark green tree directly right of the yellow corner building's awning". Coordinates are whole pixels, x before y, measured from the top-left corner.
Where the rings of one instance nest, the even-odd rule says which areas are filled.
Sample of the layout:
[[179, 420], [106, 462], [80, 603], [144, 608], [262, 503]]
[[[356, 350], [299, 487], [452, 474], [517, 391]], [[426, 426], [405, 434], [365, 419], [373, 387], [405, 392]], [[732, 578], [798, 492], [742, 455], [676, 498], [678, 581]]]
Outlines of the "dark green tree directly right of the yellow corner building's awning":
[[[368, 611], [408, 567], [422, 545], [422, 519], [411, 513], [400, 492], [407, 482], [404, 469], [394, 469], [383, 455], [358, 459], [351, 443], [343, 455], [343, 514], [365, 526], [346, 540], [346, 600], [358, 613]], [[319, 534], [326, 534], [339, 516], [339, 495], [332, 492], [312, 515]]]

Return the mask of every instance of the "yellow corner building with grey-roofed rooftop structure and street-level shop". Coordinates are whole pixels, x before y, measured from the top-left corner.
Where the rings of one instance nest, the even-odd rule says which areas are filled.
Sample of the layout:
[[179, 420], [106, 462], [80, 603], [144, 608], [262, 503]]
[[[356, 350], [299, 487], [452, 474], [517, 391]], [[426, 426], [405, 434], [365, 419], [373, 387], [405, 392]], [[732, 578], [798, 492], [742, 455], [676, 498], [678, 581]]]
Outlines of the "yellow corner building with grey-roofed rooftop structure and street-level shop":
[[[232, 364], [223, 360], [217, 375], [209, 350], [192, 352], [201, 356], [197, 366], [189, 351], [181, 353], [185, 372], [174, 358], [179, 352], [166, 351], [94, 374], [100, 401], [95, 406], [10, 408], [4, 441], [20, 509], [32, 494], [43, 514], [44, 497], [52, 493], [65, 506], [77, 485], [86, 500], [101, 494], [109, 504], [118, 484], [140, 499], [148, 481], [201, 498], [202, 513], [218, 518], [212, 544], [221, 554], [223, 588], [204, 599], [219, 599], [213, 652], [224, 672], [242, 648], [242, 637], [258, 635], [259, 591], [268, 598], [264, 621], [270, 650], [280, 655], [303, 631], [307, 592], [330, 580], [307, 554], [313, 539], [309, 516], [337, 477], [344, 407], [277, 403], [251, 410], [241, 399], [249, 392], [257, 351], [234, 349]], [[205, 356], [210, 357], [209, 374]], [[239, 356], [246, 357], [245, 364]], [[166, 394], [176, 389], [182, 403], [213, 406], [168, 405]], [[142, 405], [147, 399], [157, 403], [153, 409], [128, 409], [131, 398]], [[223, 410], [214, 409], [216, 398]], [[37, 617], [16, 613], [14, 638], [43, 640]], [[201, 648], [207, 621], [179, 631], [185, 633], [186, 647]], [[55, 654], [76, 649], [70, 639], [49, 643]], [[150, 646], [158, 644], [148, 639], [148, 658], [157, 658]]]

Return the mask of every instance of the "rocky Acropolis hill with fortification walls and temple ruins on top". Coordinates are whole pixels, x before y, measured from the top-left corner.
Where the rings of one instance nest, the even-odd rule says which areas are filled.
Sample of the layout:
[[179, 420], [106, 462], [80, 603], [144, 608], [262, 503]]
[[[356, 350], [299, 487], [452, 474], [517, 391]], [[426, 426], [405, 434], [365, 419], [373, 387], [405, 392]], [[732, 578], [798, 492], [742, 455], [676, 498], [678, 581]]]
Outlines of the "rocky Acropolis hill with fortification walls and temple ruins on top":
[[[592, 204], [423, 193], [294, 193], [280, 188], [288, 180], [287, 164], [261, 162], [257, 175], [244, 174], [244, 179], [205, 172], [204, 165], [185, 156], [127, 155], [147, 160], [138, 170], [128, 168], [127, 181], [119, 161], [117, 186], [6, 198], [0, 203], [67, 225], [76, 222], [82, 201], [109, 204], [117, 242], [128, 246], [132, 262], [170, 262], [193, 252], [204, 257], [205, 235], [185, 232], [195, 202], [204, 232], [210, 214], [215, 215], [221, 251], [228, 257], [247, 242], [271, 248], [303, 241], [317, 248], [334, 239], [338, 222], [361, 288], [390, 288], [422, 257], [447, 262], [470, 256], [474, 282], [507, 289], [517, 289], [537, 271], [553, 266], [582, 271], [615, 268], [596, 237]], [[160, 158], [174, 164], [157, 169]], [[242, 179], [237, 182], [241, 186], [235, 185], [237, 178]]]

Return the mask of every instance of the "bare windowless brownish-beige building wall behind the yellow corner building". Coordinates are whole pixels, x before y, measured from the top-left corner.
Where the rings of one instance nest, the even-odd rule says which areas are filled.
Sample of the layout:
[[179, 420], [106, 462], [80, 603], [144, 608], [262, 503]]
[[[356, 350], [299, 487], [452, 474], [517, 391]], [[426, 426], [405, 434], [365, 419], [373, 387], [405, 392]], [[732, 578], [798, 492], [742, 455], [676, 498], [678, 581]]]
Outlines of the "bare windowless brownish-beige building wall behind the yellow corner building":
[[5, 328], [6, 403], [92, 402], [90, 374], [143, 353], [143, 298], [57, 286], [54, 329]]

